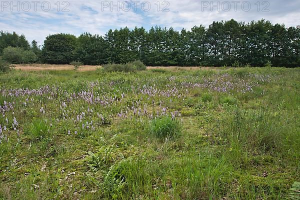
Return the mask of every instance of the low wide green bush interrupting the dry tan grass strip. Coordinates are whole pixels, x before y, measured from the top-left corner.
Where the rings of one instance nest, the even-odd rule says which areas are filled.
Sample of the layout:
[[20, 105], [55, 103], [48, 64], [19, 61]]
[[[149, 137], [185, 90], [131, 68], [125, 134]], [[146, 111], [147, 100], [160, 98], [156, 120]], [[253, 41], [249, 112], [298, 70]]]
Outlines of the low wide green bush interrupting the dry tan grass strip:
[[133, 62], [128, 62], [126, 64], [104, 64], [103, 70], [106, 72], [112, 71], [122, 71], [122, 72], [133, 72], [133, 71], [141, 71], [145, 70], [146, 65], [144, 65], [140, 60], [135, 60]]

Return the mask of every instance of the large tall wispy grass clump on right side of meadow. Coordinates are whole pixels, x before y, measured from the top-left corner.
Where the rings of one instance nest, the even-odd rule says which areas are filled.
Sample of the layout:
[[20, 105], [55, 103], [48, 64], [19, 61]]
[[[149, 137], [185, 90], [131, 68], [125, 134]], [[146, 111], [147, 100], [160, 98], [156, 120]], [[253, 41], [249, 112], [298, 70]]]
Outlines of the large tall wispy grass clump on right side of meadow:
[[248, 152], [270, 152], [282, 147], [284, 134], [276, 118], [267, 108], [239, 110], [236, 108], [231, 117], [223, 121], [223, 138], [230, 146], [240, 146]]

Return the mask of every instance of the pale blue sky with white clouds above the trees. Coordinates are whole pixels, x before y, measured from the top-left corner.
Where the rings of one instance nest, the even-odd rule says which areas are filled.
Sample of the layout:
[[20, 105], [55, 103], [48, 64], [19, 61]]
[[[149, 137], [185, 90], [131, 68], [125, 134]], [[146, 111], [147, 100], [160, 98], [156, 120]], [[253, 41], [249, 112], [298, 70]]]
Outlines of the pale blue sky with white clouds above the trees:
[[110, 28], [155, 25], [180, 30], [231, 18], [300, 25], [300, 0], [0, 0], [0, 30], [39, 44], [60, 32], [104, 35]]

